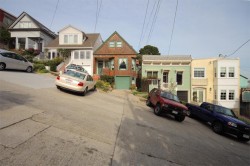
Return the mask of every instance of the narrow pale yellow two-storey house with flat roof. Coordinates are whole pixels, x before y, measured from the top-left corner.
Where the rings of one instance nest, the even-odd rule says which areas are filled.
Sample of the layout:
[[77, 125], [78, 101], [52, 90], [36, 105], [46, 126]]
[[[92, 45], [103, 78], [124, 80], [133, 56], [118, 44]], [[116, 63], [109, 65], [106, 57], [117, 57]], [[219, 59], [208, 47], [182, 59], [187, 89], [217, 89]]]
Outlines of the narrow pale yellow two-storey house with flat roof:
[[216, 58], [193, 59], [191, 62], [191, 102], [213, 103], [214, 67]]

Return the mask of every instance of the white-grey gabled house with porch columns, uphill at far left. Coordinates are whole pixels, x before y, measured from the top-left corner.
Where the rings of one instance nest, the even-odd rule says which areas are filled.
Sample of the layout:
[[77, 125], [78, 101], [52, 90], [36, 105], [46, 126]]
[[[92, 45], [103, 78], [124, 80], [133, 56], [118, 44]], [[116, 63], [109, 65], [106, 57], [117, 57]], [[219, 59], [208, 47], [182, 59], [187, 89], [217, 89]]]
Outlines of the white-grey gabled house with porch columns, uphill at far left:
[[33, 48], [44, 52], [44, 46], [56, 38], [56, 34], [39, 21], [23, 12], [9, 26], [12, 38], [15, 38], [15, 49]]

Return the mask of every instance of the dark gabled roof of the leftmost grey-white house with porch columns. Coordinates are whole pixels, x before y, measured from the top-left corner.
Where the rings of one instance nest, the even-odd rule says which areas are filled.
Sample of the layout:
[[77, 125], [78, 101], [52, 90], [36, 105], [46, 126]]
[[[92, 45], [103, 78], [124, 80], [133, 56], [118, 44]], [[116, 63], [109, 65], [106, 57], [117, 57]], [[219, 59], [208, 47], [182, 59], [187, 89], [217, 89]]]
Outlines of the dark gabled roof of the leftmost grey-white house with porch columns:
[[55, 38], [56, 34], [54, 32], [52, 32], [49, 28], [47, 28], [46, 26], [44, 26], [42, 23], [40, 23], [39, 21], [37, 21], [36, 19], [34, 19], [33, 17], [31, 17], [28, 13], [23, 12], [22, 14], [20, 14], [16, 21], [14, 21], [10, 27], [9, 30], [10, 31], [15, 31], [15, 30], [25, 30], [28, 31], [30, 30], [34, 30], [34, 28], [22, 28], [22, 29], [14, 29], [14, 26], [24, 17], [24, 16], [28, 16], [39, 28], [39, 30], [44, 31], [45, 33], [47, 33], [48, 35], [50, 35], [51, 37]]

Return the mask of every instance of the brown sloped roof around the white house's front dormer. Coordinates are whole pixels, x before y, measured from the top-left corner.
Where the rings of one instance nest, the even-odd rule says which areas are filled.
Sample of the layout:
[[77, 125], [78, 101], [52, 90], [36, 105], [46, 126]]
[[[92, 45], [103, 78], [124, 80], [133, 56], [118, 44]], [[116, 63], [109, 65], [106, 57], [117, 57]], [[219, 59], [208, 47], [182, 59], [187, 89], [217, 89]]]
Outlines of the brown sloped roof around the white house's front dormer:
[[59, 36], [57, 36], [56, 39], [51, 41], [45, 48], [83, 48], [83, 47], [93, 47], [96, 40], [100, 36], [100, 33], [87, 33], [86, 34], [87, 39], [81, 44], [63, 44], [59, 45]]

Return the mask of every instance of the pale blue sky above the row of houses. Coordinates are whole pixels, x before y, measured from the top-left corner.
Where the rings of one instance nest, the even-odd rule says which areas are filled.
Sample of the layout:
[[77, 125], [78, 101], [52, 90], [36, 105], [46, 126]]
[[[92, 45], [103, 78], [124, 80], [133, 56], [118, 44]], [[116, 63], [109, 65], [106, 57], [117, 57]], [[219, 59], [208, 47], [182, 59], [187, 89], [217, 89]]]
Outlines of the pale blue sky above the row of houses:
[[[0, 8], [15, 16], [25, 11], [56, 33], [72, 25], [105, 41], [117, 31], [138, 52], [152, 45], [161, 55], [218, 57], [250, 39], [250, 0], [178, 0], [176, 6], [177, 0], [0, 0]], [[250, 41], [230, 58], [240, 58], [241, 74], [250, 79]]]

